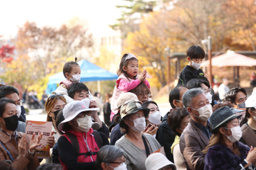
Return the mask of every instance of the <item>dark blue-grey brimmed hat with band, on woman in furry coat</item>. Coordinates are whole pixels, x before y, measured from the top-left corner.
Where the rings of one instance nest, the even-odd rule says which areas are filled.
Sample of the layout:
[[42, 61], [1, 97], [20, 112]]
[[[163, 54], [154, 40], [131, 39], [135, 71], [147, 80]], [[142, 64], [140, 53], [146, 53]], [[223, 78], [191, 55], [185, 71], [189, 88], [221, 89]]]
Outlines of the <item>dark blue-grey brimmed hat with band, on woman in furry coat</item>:
[[212, 126], [211, 133], [214, 134], [223, 125], [241, 116], [242, 115], [235, 115], [229, 107], [221, 107], [217, 109], [210, 117], [210, 123]]

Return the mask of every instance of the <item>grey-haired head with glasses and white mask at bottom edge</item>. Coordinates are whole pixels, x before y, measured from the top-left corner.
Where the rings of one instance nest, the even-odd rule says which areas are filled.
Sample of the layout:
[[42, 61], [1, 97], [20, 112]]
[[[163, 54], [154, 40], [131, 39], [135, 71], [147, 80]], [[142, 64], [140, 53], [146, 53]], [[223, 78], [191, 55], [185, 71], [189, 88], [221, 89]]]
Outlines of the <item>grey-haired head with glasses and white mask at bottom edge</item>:
[[105, 145], [100, 148], [97, 154], [96, 164], [99, 170], [127, 169], [124, 150], [113, 145]]

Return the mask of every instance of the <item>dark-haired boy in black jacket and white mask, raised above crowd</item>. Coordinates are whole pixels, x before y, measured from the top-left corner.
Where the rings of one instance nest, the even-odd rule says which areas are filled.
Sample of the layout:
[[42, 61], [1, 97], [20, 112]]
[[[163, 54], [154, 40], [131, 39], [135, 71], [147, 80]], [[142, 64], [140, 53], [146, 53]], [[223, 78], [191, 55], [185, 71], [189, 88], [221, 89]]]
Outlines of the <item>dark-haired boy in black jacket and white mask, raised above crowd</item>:
[[205, 52], [200, 46], [193, 45], [189, 47], [189, 50], [187, 50], [189, 64], [182, 69], [178, 77], [178, 85], [186, 86], [189, 80], [204, 75], [203, 70], [200, 69], [203, 58], [205, 58]]

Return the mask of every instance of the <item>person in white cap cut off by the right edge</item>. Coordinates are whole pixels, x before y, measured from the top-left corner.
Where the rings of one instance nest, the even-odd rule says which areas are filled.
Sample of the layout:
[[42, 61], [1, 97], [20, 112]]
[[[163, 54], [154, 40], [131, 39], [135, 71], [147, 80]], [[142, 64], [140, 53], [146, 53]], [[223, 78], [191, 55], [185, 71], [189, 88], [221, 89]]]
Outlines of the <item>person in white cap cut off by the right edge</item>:
[[240, 141], [249, 147], [256, 147], [256, 95], [247, 98], [245, 107], [245, 117], [241, 121], [241, 130], [243, 134]]

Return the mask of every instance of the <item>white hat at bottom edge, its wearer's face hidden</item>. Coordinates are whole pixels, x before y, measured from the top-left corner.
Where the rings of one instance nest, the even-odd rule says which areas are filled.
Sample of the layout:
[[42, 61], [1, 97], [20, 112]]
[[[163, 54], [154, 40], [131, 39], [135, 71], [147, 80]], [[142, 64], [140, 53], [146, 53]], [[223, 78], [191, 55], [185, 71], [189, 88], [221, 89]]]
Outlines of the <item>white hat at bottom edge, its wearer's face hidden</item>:
[[176, 170], [174, 163], [169, 161], [165, 155], [160, 152], [153, 153], [146, 158], [146, 170]]

